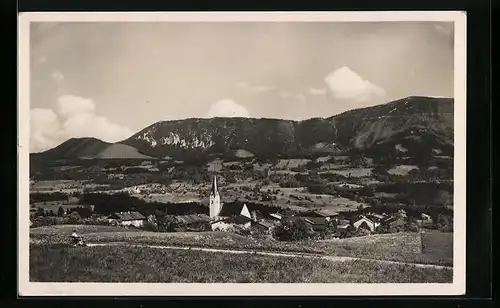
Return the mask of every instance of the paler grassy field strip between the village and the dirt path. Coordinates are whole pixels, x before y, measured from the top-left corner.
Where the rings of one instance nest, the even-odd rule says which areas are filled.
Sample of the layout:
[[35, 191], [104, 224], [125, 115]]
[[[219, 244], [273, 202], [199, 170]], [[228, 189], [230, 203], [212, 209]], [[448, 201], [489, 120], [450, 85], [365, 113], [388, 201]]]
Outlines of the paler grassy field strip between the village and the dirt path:
[[[279, 242], [270, 238], [253, 238], [229, 232], [159, 233], [111, 226], [59, 225], [30, 229], [30, 242], [33, 244], [66, 243], [73, 229], [76, 229], [90, 243], [125, 242], [256, 251], [286, 251], [446, 266], [453, 264], [452, 250], [445, 250], [446, 253], [442, 255], [437, 255], [429, 248], [424, 250], [420, 233], [377, 234], [335, 240]], [[438, 236], [435, 236], [435, 238], [438, 238]], [[449, 242], [452, 238], [452, 236], [443, 236], [440, 237], [440, 241]]]

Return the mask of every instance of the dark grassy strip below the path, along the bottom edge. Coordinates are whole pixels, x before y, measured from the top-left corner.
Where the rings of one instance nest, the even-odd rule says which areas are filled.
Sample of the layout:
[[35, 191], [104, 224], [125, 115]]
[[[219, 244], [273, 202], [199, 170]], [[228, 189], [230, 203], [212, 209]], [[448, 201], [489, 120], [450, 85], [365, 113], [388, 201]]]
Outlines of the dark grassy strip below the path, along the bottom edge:
[[177, 251], [130, 246], [30, 245], [30, 280], [173, 283], [450, 283], [451, 269], [372, 261]]

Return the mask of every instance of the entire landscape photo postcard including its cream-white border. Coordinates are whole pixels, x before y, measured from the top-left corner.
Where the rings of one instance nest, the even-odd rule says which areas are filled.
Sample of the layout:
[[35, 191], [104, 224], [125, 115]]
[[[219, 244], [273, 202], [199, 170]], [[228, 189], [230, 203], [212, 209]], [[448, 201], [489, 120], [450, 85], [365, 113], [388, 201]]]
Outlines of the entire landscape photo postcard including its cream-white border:
[[19, 17], [23, 295], [465, 292], [465, 14]]

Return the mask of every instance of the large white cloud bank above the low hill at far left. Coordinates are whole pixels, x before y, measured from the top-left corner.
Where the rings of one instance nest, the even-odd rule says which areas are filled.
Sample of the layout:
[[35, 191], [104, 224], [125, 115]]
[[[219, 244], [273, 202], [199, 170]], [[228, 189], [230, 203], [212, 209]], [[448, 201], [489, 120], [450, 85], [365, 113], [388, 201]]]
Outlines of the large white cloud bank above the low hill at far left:
[[59, 97], [56, 112], [52, 109], [30, 111], [30, 152], [41, 152], [70, 139], [95, 137], [117, 142], [133, 132], [95, 114], [95, 103], [73, 95]]

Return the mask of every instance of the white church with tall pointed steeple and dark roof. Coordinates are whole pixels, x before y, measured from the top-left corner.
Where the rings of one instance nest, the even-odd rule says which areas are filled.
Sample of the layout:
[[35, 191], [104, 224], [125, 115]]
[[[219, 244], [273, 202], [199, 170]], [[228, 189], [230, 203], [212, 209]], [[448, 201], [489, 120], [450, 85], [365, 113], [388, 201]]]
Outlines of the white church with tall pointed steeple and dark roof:
[[214, 176], [212, 188], [210, 190], [210, 218], [212, 219], [212, 229], [224, 230], [234, 225], [250, 227], [252, 218], [246, 204], [226, 205], [221, 202], [217, 188], [217, 177]]

